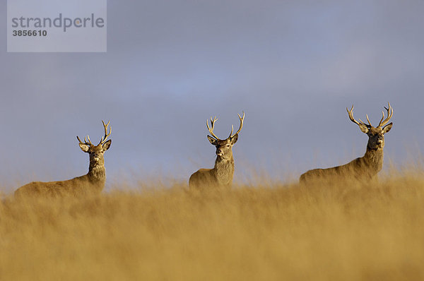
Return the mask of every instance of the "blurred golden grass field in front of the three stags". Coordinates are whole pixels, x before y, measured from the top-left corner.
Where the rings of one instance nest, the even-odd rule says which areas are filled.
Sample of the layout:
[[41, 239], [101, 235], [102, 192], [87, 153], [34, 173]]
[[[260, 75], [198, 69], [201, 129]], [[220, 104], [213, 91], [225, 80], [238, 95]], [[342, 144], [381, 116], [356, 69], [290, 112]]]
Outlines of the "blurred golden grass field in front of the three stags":
[[[0, 204], [0, 280], [423, 280], [424, 178]], [[128, 190], [128, 191], [123, 191]]]

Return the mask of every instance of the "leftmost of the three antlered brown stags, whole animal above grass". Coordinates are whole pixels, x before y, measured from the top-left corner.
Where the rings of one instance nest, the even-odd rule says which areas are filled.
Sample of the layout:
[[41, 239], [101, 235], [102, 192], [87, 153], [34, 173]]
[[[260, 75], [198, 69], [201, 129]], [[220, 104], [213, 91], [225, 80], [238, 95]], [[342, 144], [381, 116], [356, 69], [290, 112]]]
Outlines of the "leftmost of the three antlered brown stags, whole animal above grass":
[[81, 177], [69, 179], [67, 181], [49, 181], [41, 182], [34, 181], [30, 184], [25, 184], [15, 191], [16, 198], [23, 196], [83, 196], [88, 194], [100, 193], [105, 187], [106, 173], [105, 173], [105, 159], [103, 154], [110, 148], [112, 140], [107, 138], [112, 133], [110, 128], [107, 132], [107, 126], [110, 121], [105, 124], [105, 136], [102, 136], [98, 145], [91, 143], [90, 137], [84, 138], [82, 141], [78, 136], [79, 146], [83, 152], [90, 155], [90, 166], [88, 167], [88, 174]]

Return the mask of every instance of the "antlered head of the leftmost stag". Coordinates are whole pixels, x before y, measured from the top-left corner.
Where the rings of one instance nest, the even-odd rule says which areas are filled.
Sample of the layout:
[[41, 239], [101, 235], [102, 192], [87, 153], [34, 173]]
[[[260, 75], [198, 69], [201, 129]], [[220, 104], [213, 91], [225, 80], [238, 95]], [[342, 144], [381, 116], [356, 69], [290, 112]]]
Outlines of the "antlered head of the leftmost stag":
[[107, 137], [109, 137], [112, 133], [112, 128], [110, 128], [109, 133], [107, 133], [107, 126], [109, 126], [110, 121], [105, 124], [105, 122], [103, 122], [102, 120], [102, 123], [103, 127], [105, 128], [105, 136], [102, 136], [98, 145], [93, 145], [89, 136], [87, 136], [87, 140], [86, 138], [84, 138], [84, 142], [81, 141], [78, 136], [76, 136], [79, 141], [79, 146], [81, 150], [90, 155], [90, 165], [105, 165], [105, 159], [103, 158], [103, 154], [106, 150], [110, 148], [110, 145], [112, 143], [112, 140], [106, 140]]

